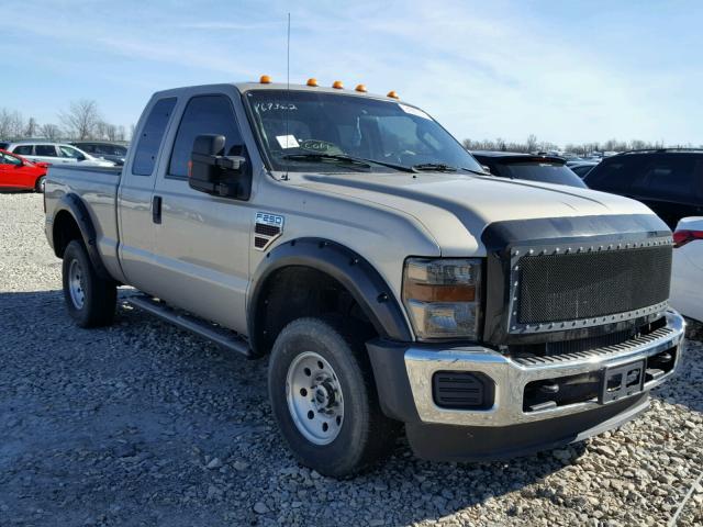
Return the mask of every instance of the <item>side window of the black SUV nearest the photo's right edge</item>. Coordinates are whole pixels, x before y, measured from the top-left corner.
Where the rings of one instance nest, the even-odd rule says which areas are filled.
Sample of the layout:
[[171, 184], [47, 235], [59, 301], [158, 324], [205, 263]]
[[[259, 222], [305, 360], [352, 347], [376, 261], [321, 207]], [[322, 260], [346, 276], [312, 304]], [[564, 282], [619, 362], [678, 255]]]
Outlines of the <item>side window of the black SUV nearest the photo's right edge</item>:
[[646, 168], [643, 184], [638, 187], [652, 197], [688, 202], [698, 194], [695, 168], [695, 159], [690, 156], [660, 157]]

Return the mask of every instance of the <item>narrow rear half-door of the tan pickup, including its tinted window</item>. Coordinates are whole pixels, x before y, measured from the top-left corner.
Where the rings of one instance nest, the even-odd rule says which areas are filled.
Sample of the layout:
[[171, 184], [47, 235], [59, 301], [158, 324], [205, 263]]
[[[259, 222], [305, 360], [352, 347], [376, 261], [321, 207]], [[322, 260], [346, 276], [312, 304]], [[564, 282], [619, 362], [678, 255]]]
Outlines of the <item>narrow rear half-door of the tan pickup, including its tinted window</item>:
[[132, 285], [149, 293], [154, 293], [150, 278], [156, 272], [152, 195], [158, 170], [158, 153], [176, 102], [175, 97], [154, 99], [144, 110], [143, 122], [137, 126], [140, 136], [133, 138], [135, 152], [122, 170], [118, 193], [122, 270]]

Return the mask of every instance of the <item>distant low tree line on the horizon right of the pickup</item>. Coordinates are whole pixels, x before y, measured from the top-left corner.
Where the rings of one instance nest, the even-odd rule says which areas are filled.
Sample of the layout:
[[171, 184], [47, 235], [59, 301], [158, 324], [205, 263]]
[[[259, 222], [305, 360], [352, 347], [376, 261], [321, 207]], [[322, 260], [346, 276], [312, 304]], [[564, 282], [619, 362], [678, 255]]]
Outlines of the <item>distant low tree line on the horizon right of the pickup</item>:
[[[464, 147], [468, 150], [499, 150], [499, 152], [518, 152], [526, 154], [534, 154], [537, 152], [560, 152], [559, 145], [548, 142], [548, 141], [538, 141], [537, 136], [531, 134], [527, 136], [527, 139], [524, 143], [521, 142], [509, 142], [501, 137], [496, 139], [464, 139]], [[563, 145], [563, 152], [572, 153], [579, 156], [588, 156], [595, 152], [627, 152], [627, 150], [641, 150], [641, 149], [657, 149], [665, 147], [676, 147], [676, 148], [703, 148], [703, 145], [693, 145], [692, 143], [687, 143], [685, 145], [665, 145], [663, 142], [648, 142], [640, 139], [633, 141], [618, 141], [618, 139], [609, 139], [603, 143], [600, 142], [591, 142], [591, 143], [568, 143]]]

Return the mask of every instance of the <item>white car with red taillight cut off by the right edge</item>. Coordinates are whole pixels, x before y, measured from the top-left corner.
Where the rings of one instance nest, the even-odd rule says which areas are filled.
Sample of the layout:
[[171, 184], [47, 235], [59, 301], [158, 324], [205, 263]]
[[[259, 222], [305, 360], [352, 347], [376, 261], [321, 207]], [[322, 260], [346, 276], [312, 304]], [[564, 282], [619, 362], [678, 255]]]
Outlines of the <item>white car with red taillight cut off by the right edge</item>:
[[673, 240], [671, 306], [703, 322], [703, 216], [681, 220]]

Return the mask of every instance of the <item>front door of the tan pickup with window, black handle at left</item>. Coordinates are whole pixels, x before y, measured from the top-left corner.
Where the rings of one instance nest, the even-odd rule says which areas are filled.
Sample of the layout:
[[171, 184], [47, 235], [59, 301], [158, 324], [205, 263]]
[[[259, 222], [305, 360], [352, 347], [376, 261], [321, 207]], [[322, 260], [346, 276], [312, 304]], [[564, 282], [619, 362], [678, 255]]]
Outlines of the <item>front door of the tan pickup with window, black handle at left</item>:
[[154, 193], [161, 203], [154, 289], [176, 306], [245, 333], [252, 205], [191, 189], [188, 166], [198, 135], [224, 135], [226, 155], [246, 155], [246, 148], [230, 96], [194, 94], [185, 102]]

